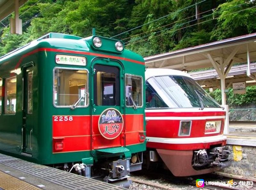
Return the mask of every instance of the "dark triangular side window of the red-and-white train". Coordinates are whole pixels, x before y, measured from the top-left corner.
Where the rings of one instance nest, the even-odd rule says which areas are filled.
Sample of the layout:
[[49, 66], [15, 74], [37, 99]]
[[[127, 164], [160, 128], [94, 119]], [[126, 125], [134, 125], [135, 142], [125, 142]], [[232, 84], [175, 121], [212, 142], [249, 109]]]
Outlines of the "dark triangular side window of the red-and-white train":
[[146, 82], [146, 108], [168, 107], [153, 87]]

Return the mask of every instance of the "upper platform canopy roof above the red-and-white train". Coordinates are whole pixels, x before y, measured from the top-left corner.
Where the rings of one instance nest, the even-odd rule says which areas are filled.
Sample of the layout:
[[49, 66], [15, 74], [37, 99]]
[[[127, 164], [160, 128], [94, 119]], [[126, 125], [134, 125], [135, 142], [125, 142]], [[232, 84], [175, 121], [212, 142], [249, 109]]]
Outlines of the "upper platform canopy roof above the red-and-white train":
[[256, 33], [238, 36], [208, 44], [202, 44], [182, 50], [171, 51], [150, 57], [145, 57], [146, 66], [149, 68], [172, 68], [186, 69], [188, 71], [213, 67], [208, 54], [219, 62], [227, 59], [235, 52], [232, 64], [247, 62], [247, 44], [250, 52], [251, 62], [256, 60]]

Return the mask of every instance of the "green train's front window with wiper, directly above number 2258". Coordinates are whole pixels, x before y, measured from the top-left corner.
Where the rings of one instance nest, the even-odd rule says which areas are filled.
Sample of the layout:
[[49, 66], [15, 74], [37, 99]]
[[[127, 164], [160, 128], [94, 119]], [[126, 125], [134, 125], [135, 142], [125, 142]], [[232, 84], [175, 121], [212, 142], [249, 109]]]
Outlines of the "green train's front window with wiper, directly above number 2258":
[[55, 68], [53, 93], [54, 105], [57, 107], [87, 106], [87, 70]]

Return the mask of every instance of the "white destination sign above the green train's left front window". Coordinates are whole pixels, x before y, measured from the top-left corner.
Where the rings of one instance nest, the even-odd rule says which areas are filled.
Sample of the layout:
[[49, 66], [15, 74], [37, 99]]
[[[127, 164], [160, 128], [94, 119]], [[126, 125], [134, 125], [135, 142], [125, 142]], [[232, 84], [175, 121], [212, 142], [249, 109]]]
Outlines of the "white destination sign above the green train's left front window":
[[86, 58], [83, 56], [72, 56], [72, 55], [61, 55], [57, 54], [55, 61], [57, 64], [65, 64], [65, 65], [86, 65]]

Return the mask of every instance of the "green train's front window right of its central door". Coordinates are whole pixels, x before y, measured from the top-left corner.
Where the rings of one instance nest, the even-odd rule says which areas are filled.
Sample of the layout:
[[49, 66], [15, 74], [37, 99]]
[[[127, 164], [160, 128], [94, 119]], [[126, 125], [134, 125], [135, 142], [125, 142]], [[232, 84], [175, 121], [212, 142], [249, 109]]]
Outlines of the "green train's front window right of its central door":
[[142, 106], [142, 77], [134, 75], [125, 76], [125, 102], [127, 107]]

